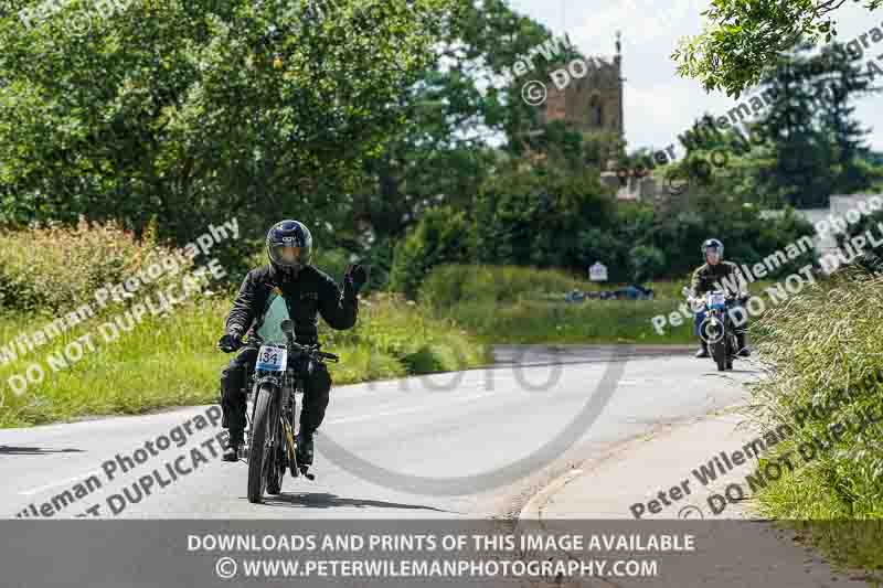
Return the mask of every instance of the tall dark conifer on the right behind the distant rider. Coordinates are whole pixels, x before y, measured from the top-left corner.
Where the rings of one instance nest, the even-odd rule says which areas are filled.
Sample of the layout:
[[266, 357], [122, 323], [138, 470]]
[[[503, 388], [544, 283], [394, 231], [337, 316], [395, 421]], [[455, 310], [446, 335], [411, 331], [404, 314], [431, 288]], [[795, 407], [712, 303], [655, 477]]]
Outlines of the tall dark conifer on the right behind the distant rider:
[[764, 79], [768, 109], [758, 120], [745, 130], [721, 130], [704, 117], [696, 125], [704, 132], [685, 133], [688, 156], [667, 174], [690, 178], [692, 192], [776, 209], [827, 207], [831, 194], [866, 190], [881, 171], [852, 103], [877, 92], [872, 82], [841, 45], [816, 54], [810, 44], [800, 44]]

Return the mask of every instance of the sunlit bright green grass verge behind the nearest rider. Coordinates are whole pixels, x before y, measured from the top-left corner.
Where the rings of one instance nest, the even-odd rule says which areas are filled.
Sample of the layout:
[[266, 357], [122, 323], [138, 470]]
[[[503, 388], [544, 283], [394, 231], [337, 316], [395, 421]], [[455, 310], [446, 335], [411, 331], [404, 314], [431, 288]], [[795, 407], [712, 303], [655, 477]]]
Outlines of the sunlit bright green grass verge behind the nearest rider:
[[[169, 406], [214, 403], [230, 356], [214, 349], [230, 309], [227, 299], [203, 300], [170, 318], [147, 318], [131, 332], [105, 343], [95, 319], [74, 332], [0, 366], [0, 427], [64, 421], [91, 415], [141, 414]], [[42, 325], [36, 318], [0, 319], [0, 341]], [[86, 333], [96, 351], [68, 370], [54, 372], [45, 357]], [[471, 367], [487, 363], [486, 348], [447, 321], [432, 319], [406, 302], [385, 297], [362, 301], [355, 329], [321, 332], [325, 349], [341, 356], [329, 370], [337, 384]], [[45, 379], [17, 395], [8, 384], [39, 361]]]

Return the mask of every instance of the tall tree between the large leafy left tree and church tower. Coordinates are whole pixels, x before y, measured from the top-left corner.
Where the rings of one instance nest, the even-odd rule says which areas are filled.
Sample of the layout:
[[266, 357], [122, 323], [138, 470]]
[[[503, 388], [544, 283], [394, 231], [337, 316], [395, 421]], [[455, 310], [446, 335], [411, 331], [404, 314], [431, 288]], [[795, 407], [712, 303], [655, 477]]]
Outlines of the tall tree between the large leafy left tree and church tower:
[[497, 159], [488, 139], [502, 138], [532, 110], [513, 98], [517, 84], [497, 89], [493, 83], [519, 55], [551, 39], [503, 0], [454, 0], [437, 18], [437, 58], [398, 95], [402, 124], [366, 161], [355, 190], [354, 231], [381, 243], [401, 237], [430, 207], [471, 207]]

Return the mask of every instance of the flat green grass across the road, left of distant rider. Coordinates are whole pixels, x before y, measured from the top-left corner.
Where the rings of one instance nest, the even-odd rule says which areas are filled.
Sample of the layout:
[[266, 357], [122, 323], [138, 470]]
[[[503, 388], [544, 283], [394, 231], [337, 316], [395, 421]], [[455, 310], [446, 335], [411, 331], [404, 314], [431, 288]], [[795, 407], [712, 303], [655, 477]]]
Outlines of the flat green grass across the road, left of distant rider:
[[[438, 317], [454, 320], [486, 342], [562, 344], [692, 344], [692, 318], [678, 309], [688, 280], [645, 285], [653, 300], [566, 302], [572, 290], [616, 290], [625, 285], [597, 284], [554, 269], [494, 266], [443, 266], [424, 281], [419, 300]], [[764, 295], [770, 282], [751, 285]], [[653, 329], [657, 316], [678, 313], [680, 323]]]

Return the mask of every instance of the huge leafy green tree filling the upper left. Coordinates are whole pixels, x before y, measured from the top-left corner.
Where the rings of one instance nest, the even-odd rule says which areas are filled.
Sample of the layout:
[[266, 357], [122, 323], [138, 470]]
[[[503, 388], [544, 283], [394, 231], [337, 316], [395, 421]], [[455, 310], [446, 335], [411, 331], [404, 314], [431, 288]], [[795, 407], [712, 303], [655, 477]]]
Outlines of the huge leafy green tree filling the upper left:
[[[0, 17], [0, 216], [331, 236], [448, 0], [71, 0]], [[17, 6], [23, 6], [18, 2]], [[85, 34], [68, 21], [92, 11]]]

